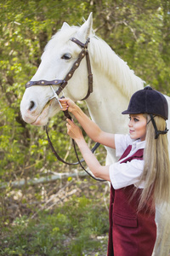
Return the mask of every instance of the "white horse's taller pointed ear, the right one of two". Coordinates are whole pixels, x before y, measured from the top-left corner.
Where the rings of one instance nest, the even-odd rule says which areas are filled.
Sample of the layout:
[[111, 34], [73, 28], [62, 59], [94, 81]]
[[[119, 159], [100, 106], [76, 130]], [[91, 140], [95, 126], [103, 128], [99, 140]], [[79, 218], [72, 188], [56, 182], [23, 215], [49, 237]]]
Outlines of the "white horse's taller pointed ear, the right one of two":
[[77, 32], [77, 36], [80, 39], [87, 40], [90, 38], [90, 34], [92, 32], [92, 26], [93, 26], [93, 13], [90, 13], [88, 16], [88, 20], [84, 22], [84, 24], [80, 27], [79, 31]]

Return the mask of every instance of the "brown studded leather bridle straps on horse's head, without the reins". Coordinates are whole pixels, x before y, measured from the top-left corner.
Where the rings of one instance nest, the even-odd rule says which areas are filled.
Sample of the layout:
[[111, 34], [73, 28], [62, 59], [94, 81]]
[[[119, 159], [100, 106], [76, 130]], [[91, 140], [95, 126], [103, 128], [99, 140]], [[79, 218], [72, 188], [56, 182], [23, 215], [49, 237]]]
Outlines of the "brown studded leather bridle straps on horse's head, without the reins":
[[33, 85], [46, 86], [46, 85], [59, 85], [60, 84], [59, 88], [56, 90], [56, 94], [59, 96], [59, 93], [65, 89], [65, 86], [67, 85], [68, 81], [72, 78], [73, 74], [75, 73], [77, 68], [80, 66], [82, 59], [86, 56], [87, 67], [88, 67], [88, 93], [82, 99], [82, 101], [86, 100], [88, 98], [90, 93], [93, 92], [93, 74], [92, 74], [90, 59], [89, 59], [89, 55], [88, 55], [88, 43], [90, 42], [90, 38], [88, 38], [88, 40], [86, 41], [85, 44], [80, 42], [77, 38], [71, 38], [71, 41], [74, 42], [75, 44], [79, 45], [82, 48], [82, 51], [78, 55], [77, 61], [74, 62], [69, 73], [66, 74], [65, 79], [63, 79], [63, 80], [54, 79], [51, 81], [47, 81], [47, 80], [29, 81], [28, 83], [26, 83], [26, 88], [29, 88]]

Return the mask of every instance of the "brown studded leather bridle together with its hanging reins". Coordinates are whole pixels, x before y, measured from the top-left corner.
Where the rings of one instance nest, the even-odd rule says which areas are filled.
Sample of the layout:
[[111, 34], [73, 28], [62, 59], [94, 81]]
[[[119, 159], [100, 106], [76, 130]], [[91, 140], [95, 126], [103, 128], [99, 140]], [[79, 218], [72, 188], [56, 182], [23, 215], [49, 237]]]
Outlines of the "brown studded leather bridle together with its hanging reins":
[[[77, 70], [77, 68], [80, 66], [80, 63], [82, 61], [82, 59], [86, 56], [86, 61], [87, 61], [87, 68], [88, 68], [88, 93], [87, 95], [82, 99], [86, 100], [88, 98], [88, 96], [90, 96], [90, 94], [93, 92], [93, 74], [92, 74], [92, 69], [91, 69], [91, 64], [90, 64], [90, 58], [88, 55], [88, 43], [90, 42], [90, 38], [88, 38], [88, 40], [86, 41], [85, 44], [83, 44], [82, 42], [80, 42], [77, 38], [71, 38], [71, 41], [74, 42], [75, 44], [79, 45], [82, 48], [82, 51], [80, 52], [80, 54], [78, 55], [77, 61], [74, 62], [73, 66], [71, 67], [71, 70], [69, 71], [69, 73], [66, 74], [65, 79], [54, 79], [51, 81], [47, 81], [47, 80], [38, 80], [38, 81], [29, 81], [28, 83], [26, 83], [26, 88], [29, 88], [33, 85], [41, 85], [41, 86], [47, 86], [50, 85], [53, 89], [52, 85], [59, 85], [59, 88], [54, 91], [54, 95], [58, 96], [56, 97], [56, 99], [59, 102], [59, 94], [62, 90], [65, 89], [65, 86], [67, 85], [68, 81], [72, 78], [73, 74], [75, 73], [75, 71]], [[64, 97], [64, 96], [63, 96]], [[53, 98], [53, 97], [52, 97]], [[71, 115], [70, 113], [68, 113], [68, 110], [63, 111], [65, 114], [65, 117], [68, 119], [71, 119]], [[97, 181], [100, 182], [105, 182], [104, 179], [100, 179], [97, 177], [94, 177], [91, 173], [89, 173], [83, 166], [82, 166], [82, 161], [84, 161], [83, 159], [80, 160], [77, 154], [77, 148], [76, 148], [76, 144], [75, 141], [72, 139], [72, 143], [73, 143], [73, 147], [75, 150], [75, 153], [77, 155], [77, 163], [69, 163], [66, 162], [65, 160], [61, 159], [59, 157], [59, 154], [57, 154], [57, 152], [54, 149], [53, 143], [51, 142], [49, 135], [48, 135], [48, 128], [47, 125], [45, 126], [45, 130], [46, 130], [46, 134], [48, 137], [48, 143], [49, 146], [52, 149], [52, 152], [54, 153], [54, 155], [56, 156], [56, 158], [61, 161], [62, 163], [66, 164], [66, 165], [70, 165], [70, 166], [75, 166], [75, 165], [80, 165], [82, 167], [82, 169], [88, 173], [88, 175], [92, 178], [94, 178]], [[94, 151], [99, 147], [99, 143], [95, 143], [94, 148], [91, 149], [92, 153], [94, 153]]]

